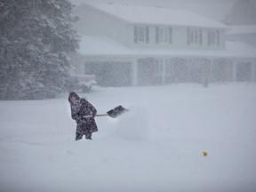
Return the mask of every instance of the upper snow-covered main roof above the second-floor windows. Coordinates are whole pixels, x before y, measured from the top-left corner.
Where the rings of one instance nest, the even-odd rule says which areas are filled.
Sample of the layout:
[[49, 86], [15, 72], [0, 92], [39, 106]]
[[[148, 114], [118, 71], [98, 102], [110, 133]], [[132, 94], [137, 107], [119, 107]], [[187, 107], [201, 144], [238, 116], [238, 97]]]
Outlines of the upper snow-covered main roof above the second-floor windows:
[[83, 6], [91, 5], [103, 12], [108, 12], [111, 15], [126, 20], [132, 23], [147, 23], [175, 26], [194, 26], [205, 28], [228, 28], [216, 20], [208, 19], [202, 15], [187, 10], [174, 10], [162, 7], [135, 6], [129, 4], [95, 4], [84, 3], [80, 4], [80, 9]]

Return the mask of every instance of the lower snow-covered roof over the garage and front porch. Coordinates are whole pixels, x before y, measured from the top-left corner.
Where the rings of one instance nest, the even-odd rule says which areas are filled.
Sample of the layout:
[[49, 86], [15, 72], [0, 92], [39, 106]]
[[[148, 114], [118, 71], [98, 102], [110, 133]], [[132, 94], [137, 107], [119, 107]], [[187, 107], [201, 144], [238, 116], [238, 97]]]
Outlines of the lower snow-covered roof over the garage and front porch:
[[83, 36], [79, 53], [99, 56], [205, 56], [205, 57], [256, 57], [256, 48], [240, 42], [226, 42], [226, 50], [188, 50], [159, 48], [129, 48], [106, 36]]

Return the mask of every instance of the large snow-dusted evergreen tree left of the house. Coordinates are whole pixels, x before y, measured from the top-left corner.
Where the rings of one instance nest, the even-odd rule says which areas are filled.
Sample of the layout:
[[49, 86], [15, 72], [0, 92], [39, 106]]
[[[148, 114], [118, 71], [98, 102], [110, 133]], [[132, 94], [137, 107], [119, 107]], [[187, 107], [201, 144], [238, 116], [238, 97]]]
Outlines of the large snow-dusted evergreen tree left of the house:
[[70, 74], [78, 36], [67, 0], [0, 0], [0, 99], [53, 98]]

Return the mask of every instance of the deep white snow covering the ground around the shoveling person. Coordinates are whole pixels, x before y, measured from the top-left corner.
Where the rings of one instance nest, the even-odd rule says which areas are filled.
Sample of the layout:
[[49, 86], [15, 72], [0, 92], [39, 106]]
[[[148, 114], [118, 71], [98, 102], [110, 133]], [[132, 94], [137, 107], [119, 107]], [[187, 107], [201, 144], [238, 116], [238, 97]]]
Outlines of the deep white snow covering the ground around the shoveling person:
[[[1, 192], [255, 192], [256, 84], [100, 88], [104, 114], [75, 141], [68, 93], [0, 101]], [[203, 151], [208, 156], [203, 156]]]

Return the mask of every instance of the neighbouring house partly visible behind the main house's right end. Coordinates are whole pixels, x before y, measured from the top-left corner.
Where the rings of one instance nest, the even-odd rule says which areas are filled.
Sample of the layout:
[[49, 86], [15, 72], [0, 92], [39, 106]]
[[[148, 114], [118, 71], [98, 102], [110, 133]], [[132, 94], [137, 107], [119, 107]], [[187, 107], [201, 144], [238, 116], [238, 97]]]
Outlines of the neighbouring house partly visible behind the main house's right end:
[[226, 33], [229, 41], [240, 41], [256, 47], [256, 25], [229, 26]]

